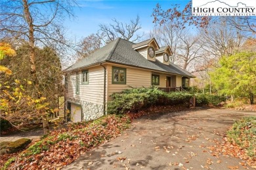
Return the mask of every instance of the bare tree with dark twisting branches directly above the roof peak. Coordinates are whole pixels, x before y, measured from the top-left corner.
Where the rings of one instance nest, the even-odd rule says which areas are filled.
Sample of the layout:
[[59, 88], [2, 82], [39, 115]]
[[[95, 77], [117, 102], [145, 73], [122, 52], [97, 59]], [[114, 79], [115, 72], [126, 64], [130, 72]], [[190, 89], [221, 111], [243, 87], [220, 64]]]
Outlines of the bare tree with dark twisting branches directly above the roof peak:
[[114, 41], [117, 37], [121, 37], [128, 41], [137, 42], [144, 35], [136, 34], [138, 30], [141, 29], [140, 25], [140, 17], [137, 16], [135, 20], [131, 20], [128, 24], [119, 22], [114, 18], [112, 20], [114, 23], [109, 26], [106, 24], [100, 24], [100, 33], [103, 33], [104, 37], [102, 40], [104, 43], [109, 43], [110, 41]]

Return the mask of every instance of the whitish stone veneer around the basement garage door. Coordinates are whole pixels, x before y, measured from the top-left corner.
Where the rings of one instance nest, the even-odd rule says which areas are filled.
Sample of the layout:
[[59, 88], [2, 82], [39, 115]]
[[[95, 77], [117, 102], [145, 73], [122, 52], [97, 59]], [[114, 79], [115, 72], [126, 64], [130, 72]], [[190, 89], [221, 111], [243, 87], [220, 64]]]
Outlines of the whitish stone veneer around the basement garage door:
[[[66, 102], [71, 102], [75, 104], [79, 104], [82, 107], [83, 121], [89, 121], [93, 119], [97, 119], [104, 115], [103, 113], [103, 104], [94, 104], [91, 102], [85, 102], [83, 100], [78, 100], [75, 98], [66, 98]], [[67, 104], [66, 104], [67, 106]]]

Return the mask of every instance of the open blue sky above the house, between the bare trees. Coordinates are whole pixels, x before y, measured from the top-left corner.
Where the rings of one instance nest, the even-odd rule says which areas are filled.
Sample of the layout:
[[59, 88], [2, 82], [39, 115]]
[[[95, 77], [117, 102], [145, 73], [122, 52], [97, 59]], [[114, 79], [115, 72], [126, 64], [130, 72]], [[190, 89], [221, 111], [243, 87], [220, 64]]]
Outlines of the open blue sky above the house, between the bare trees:
[[151, 16], [156, 4], [160, 3], [163, 9], [168, 9], [171, 4], [180, 4], [184, 7], [188, 0], [129, 0], [129, 1], [107, 1], [107, 0], [77, 0], [79, 7], [74, 7], [75, 18], [66, 21], [68, 33], [76, 39], [86, 37], [91, 33], [96, 33], [99, 24], [110, 24], [116, 18], [120, 22], [129, 23], [140, 16], [142, 29], [138, 33], [148, 33], [154, 27], [153, 17]]

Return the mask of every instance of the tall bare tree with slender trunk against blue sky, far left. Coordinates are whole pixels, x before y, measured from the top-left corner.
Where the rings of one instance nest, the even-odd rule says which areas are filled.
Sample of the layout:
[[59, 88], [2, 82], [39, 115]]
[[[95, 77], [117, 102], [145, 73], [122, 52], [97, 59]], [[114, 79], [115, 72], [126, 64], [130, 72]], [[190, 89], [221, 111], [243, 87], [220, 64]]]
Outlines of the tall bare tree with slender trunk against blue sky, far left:
[[64, 16], [73, 16], [72, 3], [73, 0], [3, 0], [0, 3], [0, 38], [28, 41], [30, 74], [35, 86], [38, 85], [35, 46], [68, 45], [62, 23]]

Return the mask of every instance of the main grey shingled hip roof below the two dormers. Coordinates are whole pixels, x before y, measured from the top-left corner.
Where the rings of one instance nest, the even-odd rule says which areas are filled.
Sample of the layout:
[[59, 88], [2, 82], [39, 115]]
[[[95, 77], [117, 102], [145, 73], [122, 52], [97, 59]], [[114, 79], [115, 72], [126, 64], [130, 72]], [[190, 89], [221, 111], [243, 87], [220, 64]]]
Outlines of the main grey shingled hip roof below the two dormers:
[[156, 62], [147, 60], [139, 52], [133, 49], [133, 45], [135, 45], [135, 43], [125, 39], [117, 38], [101, 49], [98, 49], [90, 56], [87, 56], [69, 68], [66, 68], [64, 72], [81, 70], [88, 66], [95, 66], [96, 64], [104, 62], [112, 62], [116, 64], [134, 66], [137, 68], [145, 68], [156, 72], [166, 72], [170, 74], [194, 77], [194, 75], [186, 72], [186, 70], [183, 70], [182, 68], [179, 68], [179, 66], [176, 66], [175, 64], [170, 64], [167, 66], [158, 60], [156, 60]]

